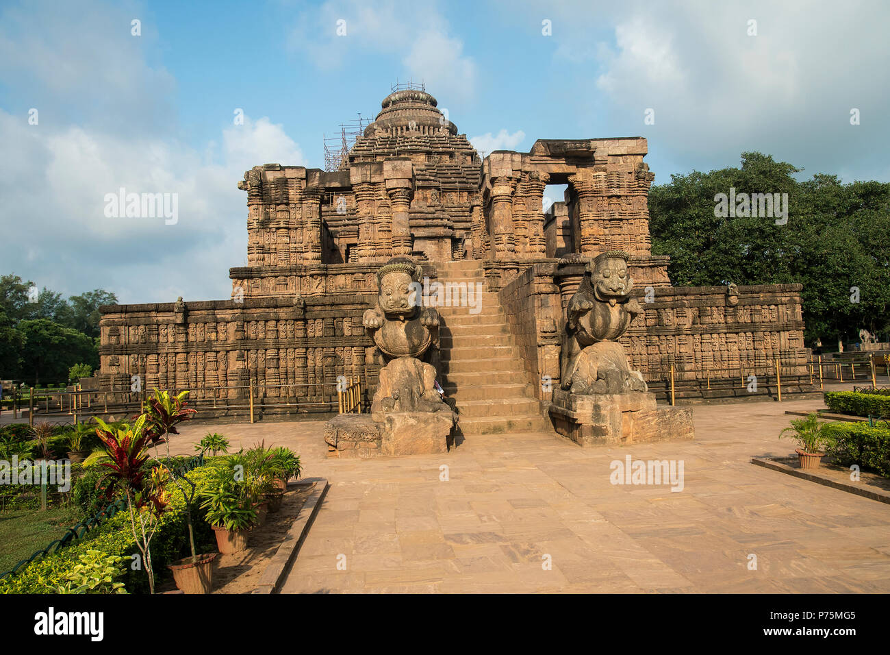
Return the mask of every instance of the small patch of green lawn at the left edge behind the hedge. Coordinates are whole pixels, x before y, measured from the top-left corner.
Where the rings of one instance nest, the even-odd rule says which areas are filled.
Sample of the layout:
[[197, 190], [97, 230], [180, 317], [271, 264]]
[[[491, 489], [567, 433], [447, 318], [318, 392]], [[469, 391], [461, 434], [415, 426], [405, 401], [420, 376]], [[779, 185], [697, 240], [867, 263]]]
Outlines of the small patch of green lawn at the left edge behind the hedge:
[[0, 573], [63, 536], [65, 528], [73, 527], [78, 520], [77, 510], [66, 507], [54, 507], [46, 512], [0, 512]]

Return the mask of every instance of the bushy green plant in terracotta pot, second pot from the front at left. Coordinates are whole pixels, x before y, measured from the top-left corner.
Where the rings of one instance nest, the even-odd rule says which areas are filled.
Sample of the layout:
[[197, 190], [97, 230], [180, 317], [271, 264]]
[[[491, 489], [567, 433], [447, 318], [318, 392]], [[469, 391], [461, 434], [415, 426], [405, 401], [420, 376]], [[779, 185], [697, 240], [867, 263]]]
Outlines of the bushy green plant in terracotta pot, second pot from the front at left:
[[214, 530], [216, 545], [224, 555], [247, 548], [247, 532], [256, 522], [256, 510], [246, 494], [244, 483], [221, 469], [214, 484], [201, 492], [207, 522]]

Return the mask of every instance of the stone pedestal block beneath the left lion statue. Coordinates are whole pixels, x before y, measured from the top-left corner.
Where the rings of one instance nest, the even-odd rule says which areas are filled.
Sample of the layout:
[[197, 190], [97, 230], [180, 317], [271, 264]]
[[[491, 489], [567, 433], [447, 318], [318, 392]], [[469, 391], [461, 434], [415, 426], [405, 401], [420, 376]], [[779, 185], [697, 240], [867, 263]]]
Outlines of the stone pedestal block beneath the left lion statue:
[[325, 424], [328, 457], [448, 453], [455, 418], [450, 411], [397, 412], [377, 423], [367, 413], [342, 413]]

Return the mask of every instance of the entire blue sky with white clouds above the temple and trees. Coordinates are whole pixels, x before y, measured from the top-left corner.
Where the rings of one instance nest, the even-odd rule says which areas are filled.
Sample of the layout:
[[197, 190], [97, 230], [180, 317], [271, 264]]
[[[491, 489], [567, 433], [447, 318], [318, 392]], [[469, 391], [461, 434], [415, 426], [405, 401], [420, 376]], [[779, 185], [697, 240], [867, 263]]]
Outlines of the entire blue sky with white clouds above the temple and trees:
[[[484, 151], [640, 135], [656, 184], [748, 150], [886, 181], [888, 19], [878, 2], [0, 3], [0, 270], [124, 302], [227, 298], [243, 172], [322, 168], [322, 134], [373, 118], [397, 79], [423, 79]], [[121, 186], [178, 193], [176, 225], [104, 216]]]

